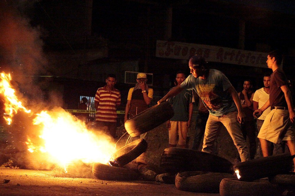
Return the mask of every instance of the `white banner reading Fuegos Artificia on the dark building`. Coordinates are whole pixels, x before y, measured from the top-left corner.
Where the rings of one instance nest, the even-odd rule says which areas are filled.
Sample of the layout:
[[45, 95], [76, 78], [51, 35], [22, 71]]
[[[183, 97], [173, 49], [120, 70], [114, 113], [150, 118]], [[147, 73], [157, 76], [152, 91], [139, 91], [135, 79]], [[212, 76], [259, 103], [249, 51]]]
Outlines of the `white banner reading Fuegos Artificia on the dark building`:
[[157, 40], [156, 57], [189, 60], [195, 54], [204, 56], [208, 62], [267, 68], [267, 53], [264, 52]]

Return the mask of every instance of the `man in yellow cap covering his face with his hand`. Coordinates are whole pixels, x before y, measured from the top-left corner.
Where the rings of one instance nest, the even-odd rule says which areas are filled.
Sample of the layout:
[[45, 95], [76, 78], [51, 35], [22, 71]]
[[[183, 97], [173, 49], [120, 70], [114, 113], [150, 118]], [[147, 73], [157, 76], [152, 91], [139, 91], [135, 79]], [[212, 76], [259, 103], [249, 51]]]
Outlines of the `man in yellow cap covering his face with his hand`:
[[[148, 105], [153, 99], [154, 91], [147, 85], [147, 75], [145, 73], [138, 73], [136, 81], [135, 87], [129, 89], [128, 92], [124, 122], [128, 120], [128, 117], [131, 118], [148, 109]], [[143, 133], [140, 137], [132, 137], [132, 141], [140, 138], [145, 139], [146, 134]]]

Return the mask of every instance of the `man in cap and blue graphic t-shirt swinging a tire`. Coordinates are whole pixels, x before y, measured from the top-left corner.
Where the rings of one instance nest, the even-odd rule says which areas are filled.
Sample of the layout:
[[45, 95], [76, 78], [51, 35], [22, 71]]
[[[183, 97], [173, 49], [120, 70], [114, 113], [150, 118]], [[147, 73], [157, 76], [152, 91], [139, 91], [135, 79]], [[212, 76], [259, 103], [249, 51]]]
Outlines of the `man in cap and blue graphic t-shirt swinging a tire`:
[[237, 91], [227, 77], [216, 69], [207, 69], [204, 57], [195, 55], [189, 60], [191, 75], [179, 86], [173, 88], [158, 104], [175, 96], [183, 89], [194, 89], [210, 114], [204, 133], [203, 152], [212, 153], [215, 139], [223, 124], [230, 134], [241, 161], [249, 160], [249, 151], [242, 135], [241, 125], [245, 114]]

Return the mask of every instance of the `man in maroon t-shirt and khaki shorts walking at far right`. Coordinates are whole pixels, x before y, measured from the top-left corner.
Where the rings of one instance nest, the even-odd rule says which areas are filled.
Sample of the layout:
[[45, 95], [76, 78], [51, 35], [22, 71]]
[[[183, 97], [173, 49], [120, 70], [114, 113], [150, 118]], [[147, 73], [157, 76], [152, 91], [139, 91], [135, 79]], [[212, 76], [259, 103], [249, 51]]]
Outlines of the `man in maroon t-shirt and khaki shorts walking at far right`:
[[[295, 137], [292, 127], [295, 112], [286, 75], [279, 68], [282, 59], [282, 54], [278, 50], [268, 54], [266, 63], [268, 68], [273, 70], [269, 100], [253, 113], [253, 115], [259, 117], [264, 110], [271, 106], [271, 112], [266, 116], [257, 136], [261, 144], [263, 157], [271, 155], [271, 142], [278, 144], [280, 141], [286, 142], [291, 155], [295, 155]], [[295, 158], [293, 161], [295, 164]]]

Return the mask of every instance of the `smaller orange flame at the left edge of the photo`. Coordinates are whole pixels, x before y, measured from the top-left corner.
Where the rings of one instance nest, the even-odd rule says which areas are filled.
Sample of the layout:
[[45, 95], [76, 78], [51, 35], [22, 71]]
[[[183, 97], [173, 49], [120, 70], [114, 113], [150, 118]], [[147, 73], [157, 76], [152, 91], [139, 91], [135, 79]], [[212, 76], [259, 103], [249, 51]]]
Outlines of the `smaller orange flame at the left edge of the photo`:
[[22, 102], [20, 102], [15, 95], [15, 90], [12, 89], [10, 85], [11, 76], [10, 74], [5, 74], [2, 72], [0, 74], [0, 94], [4, 97], [4, 119], [7, 124], [11, 124], [12, 117], [17, 113], [18, 110], [30, 113], [31, 110], [27, 110], [22, 106]]

